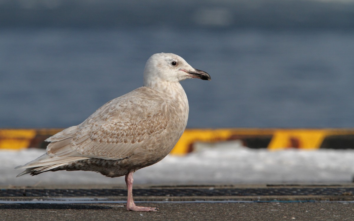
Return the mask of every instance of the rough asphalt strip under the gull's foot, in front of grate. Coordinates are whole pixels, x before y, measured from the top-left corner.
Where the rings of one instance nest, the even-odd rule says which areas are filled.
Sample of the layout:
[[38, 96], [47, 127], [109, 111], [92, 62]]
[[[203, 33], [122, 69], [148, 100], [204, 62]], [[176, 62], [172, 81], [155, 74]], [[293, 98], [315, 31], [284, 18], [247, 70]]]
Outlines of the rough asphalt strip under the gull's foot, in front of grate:
[[120, 204], [2, 204], [0, 220], [354, 220], [353, 203], [140, 203], [157, 212], [126, 211]]

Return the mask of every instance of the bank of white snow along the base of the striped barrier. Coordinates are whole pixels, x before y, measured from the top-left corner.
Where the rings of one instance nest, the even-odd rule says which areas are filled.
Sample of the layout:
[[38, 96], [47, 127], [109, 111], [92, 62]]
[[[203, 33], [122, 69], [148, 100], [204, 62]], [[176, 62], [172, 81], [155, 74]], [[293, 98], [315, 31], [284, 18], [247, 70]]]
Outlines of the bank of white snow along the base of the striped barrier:
[[[134, 184], [236, 184], [236, 183], [343, 183], [352, 182], [354, 150], [269, 151], [249, 149], [238, 142], [198, 143], [196, 152], [168, 155], [155, 165], [138, 170]], [[0, 185], [117, 184], [124, 177], [107, 178], [88, 171], [45, 172], [23, 175], [14, 167], [45, 152], [43, 149], [0, 151]]]

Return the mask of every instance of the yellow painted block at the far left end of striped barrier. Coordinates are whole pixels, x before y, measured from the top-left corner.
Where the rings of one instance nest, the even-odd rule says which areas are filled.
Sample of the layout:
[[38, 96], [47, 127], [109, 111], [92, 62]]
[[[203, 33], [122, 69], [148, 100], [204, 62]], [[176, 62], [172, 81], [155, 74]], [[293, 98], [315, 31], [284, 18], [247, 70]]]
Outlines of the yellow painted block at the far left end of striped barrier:
[[27, 148], [35, 136], [36, 130], [34, 129], [2, 129], [0, 130], [0, 149]]

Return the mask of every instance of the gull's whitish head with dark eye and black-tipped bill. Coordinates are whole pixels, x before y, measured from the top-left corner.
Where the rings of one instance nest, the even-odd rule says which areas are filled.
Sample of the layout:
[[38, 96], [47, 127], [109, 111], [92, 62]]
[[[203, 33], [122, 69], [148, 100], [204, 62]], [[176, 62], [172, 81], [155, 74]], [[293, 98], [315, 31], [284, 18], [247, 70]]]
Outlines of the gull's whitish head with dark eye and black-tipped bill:
[[172, 53], [153, 54], [144, 69], [144, 86], [151, 84], [199, 78], [210, 80], [210, 75], [190, 66], [183, 58]]

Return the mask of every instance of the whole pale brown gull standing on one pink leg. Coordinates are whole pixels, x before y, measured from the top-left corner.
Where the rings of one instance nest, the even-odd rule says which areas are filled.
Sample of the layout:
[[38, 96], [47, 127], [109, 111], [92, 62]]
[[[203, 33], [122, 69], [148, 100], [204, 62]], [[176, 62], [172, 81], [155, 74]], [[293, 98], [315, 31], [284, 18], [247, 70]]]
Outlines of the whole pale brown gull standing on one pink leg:
[[17, 177], [46, 171], [95, 171], [107, 177], [125, 175], [127, 210], [133, 201], [133, 173], [170, 153], [187, 125], [188, 100], [181, 80], [210, 80], [208, 73], [171, 53], [152, 55], [144, 69], [144, 86], [109, 101], [77, 126], [46, 139], [47, 152], [16, 169]]

